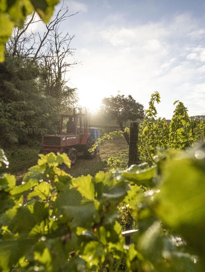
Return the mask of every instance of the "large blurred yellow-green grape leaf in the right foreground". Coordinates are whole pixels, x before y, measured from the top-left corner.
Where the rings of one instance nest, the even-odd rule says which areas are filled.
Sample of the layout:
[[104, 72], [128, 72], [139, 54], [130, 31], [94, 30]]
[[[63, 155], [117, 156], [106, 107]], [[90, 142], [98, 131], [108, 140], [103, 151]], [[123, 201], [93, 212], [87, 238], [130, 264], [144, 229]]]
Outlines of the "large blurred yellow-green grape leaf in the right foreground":
[[[197, 154], [203, 154], [197, 158]], [[200, 148], [170, 161], [156, 194], [156, 213], [163, 223], [178, 231], [198, 254], [205, 250], [205, 155]]]

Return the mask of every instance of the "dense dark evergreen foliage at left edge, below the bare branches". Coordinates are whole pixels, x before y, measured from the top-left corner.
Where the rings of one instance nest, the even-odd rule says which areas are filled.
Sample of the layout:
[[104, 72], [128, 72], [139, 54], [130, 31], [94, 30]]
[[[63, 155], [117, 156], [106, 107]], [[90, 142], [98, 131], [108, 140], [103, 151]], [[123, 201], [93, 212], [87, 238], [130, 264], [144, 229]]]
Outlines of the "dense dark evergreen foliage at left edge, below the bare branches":
[[56, 133], [55, 100], [39, 89], [36, 62], [6, 56], [0, 64], [0, 141], [3, 146]]

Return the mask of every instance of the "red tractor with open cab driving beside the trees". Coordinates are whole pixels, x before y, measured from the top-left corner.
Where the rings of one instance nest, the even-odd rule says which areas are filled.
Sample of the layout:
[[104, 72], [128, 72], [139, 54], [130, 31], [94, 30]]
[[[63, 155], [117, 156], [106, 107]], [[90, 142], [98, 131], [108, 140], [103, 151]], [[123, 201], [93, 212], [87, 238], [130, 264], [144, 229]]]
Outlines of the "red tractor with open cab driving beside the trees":
[[[77, 153], [83, 152], [86, 158], [94, 158], [97, 150], [89, 152], [95, 140], [91, 137], [88, 128], [88, 112], [86, 108], [74, 108], [73, 115], [62, 115], [59, 127], [59, 134], [46, 135], [42, 139], [43, 154], [49, 152], [66, 153], [74, 165]], [[66, 119], [69, 121], [66, 122]], [[72, 129], [69, 130], [69, 122], [73, 119]], [[63, 127], [67, 124], [66, 131]]]

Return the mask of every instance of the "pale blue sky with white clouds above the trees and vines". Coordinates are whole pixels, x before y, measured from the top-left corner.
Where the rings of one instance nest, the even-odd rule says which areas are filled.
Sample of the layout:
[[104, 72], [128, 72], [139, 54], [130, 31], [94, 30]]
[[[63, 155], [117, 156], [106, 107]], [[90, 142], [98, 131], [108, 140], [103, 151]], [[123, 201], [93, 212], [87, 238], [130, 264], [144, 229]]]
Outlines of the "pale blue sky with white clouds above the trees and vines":
[[[120, 91], [148, 108], [158, 91], [158, 116], [171, 119], [175, 100], [189, 116], [205, 115], [205, 1], [64, 0], [61, 25], [75, 35], [68, 86], [92, 110]], [[62, 4], [62, 2], [61, 2]], [[58, 8], [58, 6], [57, 6]], [[56, 8], [56, 9], [57, 9]]]

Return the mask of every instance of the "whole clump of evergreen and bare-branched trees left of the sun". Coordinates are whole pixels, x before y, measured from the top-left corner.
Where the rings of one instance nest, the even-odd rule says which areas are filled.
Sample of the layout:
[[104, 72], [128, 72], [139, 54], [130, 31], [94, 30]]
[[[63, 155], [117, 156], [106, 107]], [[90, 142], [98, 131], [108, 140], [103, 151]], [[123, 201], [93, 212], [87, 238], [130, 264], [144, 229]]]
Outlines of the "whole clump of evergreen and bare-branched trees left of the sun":
[[59, 25], [69, 17], [67, 13], [62, 6], [46, 25], [46, 33], [29, 34], [28, 27], [38, 22], [33, 14], [7, 43], [5, 62], [0, 63], [0, 142], [4, 147], [57, 133], [60, 114], [68, 113], [77, 101], [76, 89], [66, 86], [64, 79], [71, 65], [67, 57], [72, 55], [72, 37], [62, 37]]

